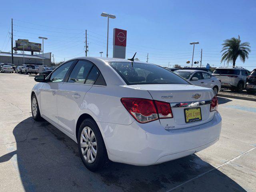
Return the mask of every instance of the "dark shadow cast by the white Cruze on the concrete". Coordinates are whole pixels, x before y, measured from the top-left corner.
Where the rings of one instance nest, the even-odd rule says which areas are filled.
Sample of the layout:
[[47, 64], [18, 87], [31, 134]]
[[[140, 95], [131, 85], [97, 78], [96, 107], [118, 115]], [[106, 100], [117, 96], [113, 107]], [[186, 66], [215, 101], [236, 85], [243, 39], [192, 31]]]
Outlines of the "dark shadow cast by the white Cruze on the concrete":
[[93, 173], [82, 164], [77, 144], [46, 121], [27, 118], [13, 134], [16, 147], [8, 144], [9, 153], [1, 156], [0, 162], [18, 164], [27, 192], [164, 192], [206, 172], [173, 191], [245, 191], [195, 154], [153, 166], [110, 162], [104, 170]]

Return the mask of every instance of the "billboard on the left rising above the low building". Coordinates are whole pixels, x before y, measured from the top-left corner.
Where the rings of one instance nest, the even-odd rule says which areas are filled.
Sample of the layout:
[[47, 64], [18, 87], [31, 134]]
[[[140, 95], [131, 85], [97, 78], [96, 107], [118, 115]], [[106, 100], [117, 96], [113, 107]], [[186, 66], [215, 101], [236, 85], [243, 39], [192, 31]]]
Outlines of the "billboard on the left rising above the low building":
[[29, 42], [27, 39], [16, 40], [14, 50], [23, 51], [23, 45], [22, 45], [23, 43], [24, 43], [24, 51], [41, 52], [42, 46], [40, 43]]

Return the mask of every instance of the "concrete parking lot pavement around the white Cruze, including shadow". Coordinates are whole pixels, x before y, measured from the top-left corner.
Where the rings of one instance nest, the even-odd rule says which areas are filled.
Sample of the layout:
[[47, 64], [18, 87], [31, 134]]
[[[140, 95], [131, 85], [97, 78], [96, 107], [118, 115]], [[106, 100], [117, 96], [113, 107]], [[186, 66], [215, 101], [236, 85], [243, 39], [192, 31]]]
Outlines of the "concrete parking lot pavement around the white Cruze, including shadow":
[[76, 143], [31, 118], [34, 77], [0, 74], [0, 192], [256, 191], [256, 102], [218, 98], [220, 140], [201, 152], [154, 166], [111, 162], [98, 173]]

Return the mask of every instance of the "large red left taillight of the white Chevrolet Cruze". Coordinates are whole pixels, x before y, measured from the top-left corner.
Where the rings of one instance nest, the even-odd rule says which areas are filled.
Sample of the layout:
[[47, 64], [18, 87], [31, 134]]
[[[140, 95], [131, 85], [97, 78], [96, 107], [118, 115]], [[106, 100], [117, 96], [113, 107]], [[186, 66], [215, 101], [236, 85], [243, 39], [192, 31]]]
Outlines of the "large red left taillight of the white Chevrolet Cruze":
[[122, 98], [121, 102], [135, 120], [140, 123], [173, 117], [171, 106], [167, 102], [142, 98]]

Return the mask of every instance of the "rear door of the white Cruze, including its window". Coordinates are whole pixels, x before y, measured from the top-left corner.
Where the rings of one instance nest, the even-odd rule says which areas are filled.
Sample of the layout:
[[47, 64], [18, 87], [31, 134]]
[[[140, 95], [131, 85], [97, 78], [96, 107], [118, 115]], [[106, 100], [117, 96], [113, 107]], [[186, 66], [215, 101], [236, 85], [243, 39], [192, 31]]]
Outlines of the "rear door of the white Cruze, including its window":
[[58, 124], [71, 134], [74, 134], [78, 109], [97, 75], [92, 62], [78, 60], [66, 82], [60, 87], [57, 101]]

